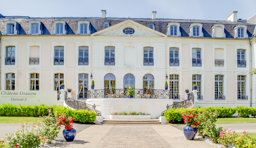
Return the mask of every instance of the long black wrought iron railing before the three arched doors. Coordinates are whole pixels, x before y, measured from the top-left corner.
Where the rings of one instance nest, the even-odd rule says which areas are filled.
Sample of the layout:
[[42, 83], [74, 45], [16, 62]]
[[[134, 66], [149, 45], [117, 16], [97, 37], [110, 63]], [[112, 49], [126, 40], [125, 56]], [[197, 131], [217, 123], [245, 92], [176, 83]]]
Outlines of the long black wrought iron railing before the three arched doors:
[[[128, 92], [133, 95], [129, 95]], [[89, 90], [87, 98], [161, 98], [172, 99], [172, 93], [169, 90], [146, 90], [146, 89], [104, 89]]]

